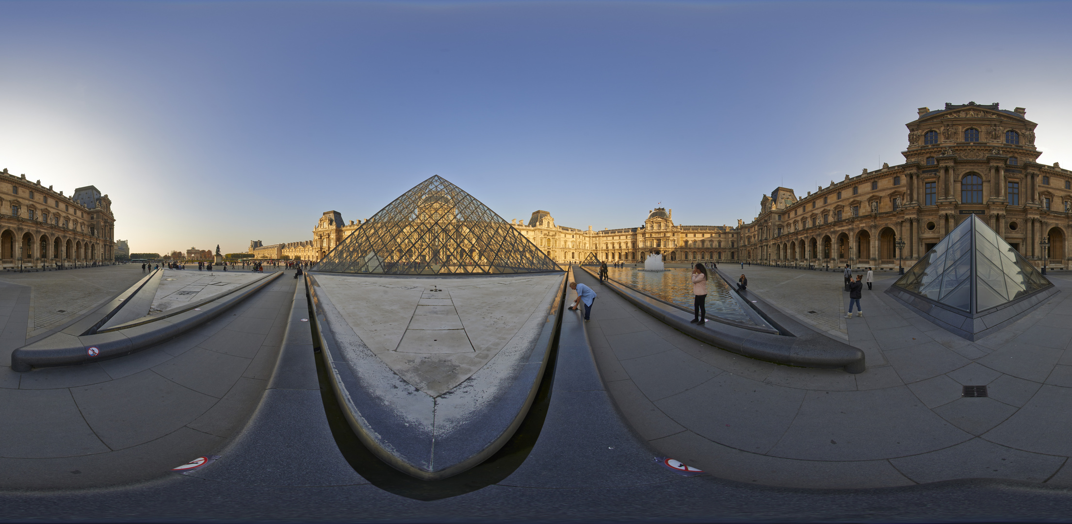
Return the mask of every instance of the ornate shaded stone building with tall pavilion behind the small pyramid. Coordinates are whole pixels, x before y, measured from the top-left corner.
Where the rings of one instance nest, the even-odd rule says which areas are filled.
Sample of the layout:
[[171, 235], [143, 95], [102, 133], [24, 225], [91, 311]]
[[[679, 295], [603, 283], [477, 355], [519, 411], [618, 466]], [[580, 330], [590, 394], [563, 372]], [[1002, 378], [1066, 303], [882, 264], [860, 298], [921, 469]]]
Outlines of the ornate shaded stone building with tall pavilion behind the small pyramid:
[[1037, 265], [1047, 254], [1051, 267], [1067, 267], [1072, 171], [1037, 162], [1038, 124], [1025, 114], [974, 102], [921, 107], [906, 124], [905, 163], [846, 175], [802, 196], [787, 188], [764, 195], [760, 215], [741, 227], [742, 256], [894, 268], [898, 240], [905, 260], [917, 260], [979, 214]]

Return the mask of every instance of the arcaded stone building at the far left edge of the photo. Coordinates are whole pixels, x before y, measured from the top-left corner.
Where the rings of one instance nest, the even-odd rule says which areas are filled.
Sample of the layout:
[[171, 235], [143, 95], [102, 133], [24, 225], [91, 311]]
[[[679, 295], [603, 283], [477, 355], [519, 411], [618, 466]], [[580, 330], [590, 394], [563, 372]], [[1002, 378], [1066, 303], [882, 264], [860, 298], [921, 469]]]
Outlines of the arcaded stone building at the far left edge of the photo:
[[111, 199], [92, 186], [74, 195], [0, 173], [0, 267], [81, 267], [115, 259]]

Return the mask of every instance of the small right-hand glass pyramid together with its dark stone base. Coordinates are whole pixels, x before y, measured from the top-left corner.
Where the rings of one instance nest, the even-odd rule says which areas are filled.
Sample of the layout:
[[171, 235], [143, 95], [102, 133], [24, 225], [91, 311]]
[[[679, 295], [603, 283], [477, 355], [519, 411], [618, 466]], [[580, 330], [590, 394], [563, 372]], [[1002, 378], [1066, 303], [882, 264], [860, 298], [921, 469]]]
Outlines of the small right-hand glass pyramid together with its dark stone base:
[[[1043, 293], [1047, 290], [1051, 293]], [[932, 321], [976, 340], [981, 333], [1015, 320], [1056, 289], [1034, 266], [972, 214], [887, 293]]]

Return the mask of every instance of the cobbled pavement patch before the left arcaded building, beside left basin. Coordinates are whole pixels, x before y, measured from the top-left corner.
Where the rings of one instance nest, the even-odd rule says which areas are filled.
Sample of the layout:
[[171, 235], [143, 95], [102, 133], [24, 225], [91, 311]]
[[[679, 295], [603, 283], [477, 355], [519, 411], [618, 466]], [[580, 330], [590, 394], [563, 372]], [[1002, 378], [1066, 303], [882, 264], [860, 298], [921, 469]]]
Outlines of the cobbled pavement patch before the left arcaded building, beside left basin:
[[36, 336], [76, 315], [95, 310], [134, 285], [145, 274], [142, 265], [69, 269], [32, 273], [0, 273], [0, 280], [29, 286], [30, 318], [27, 339]]

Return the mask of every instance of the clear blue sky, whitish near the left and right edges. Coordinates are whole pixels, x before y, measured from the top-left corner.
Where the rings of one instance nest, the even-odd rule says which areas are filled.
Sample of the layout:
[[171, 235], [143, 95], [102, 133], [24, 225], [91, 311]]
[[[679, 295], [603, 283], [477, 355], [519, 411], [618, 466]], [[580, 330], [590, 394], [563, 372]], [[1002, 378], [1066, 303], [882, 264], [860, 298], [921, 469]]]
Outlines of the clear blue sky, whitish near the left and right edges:
[[506, 220], [735, 225], [946, 102], [1072, 165], [1072, 2], [0, 1], [0, 169], [133, 252], [244, 252], [440, 175]]

